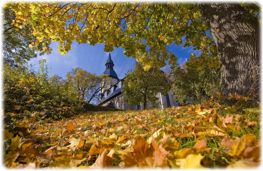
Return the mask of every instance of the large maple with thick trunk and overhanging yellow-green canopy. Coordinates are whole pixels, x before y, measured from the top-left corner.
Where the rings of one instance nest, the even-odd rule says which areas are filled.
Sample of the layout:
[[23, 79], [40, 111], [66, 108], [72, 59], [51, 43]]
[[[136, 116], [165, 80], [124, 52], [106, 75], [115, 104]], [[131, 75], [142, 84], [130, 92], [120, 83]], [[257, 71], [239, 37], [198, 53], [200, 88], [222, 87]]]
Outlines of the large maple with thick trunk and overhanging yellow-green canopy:
[[[105, 43], [105, 51], [125, 48], [148, 70], [151, 66], [174, 64], [169, 45], [193, 46], [204, 61], [219, 55], [220, 91], [257, 96], [259, 84], [260, 8], [244, 2], [64, 2], [10, 3], [24, 26], [31, 24], [38, 40], [59, 42], [59, 51], [70, 50], [73, 40], [90, 45]], [[211, 36], [213, 35], [213, 37]], [[257, 96], [258, 98], [258, 96]]]

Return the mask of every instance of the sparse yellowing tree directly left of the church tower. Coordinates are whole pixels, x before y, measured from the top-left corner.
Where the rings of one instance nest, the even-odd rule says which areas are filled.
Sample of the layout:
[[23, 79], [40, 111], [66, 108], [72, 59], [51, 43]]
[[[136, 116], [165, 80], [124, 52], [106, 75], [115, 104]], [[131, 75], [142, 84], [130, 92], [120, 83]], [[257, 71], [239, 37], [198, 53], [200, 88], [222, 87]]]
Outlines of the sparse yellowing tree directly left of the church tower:
[[88, 103], [93, 102], [94, 98], [98, 99], [99, 91], [111, 83], [111, 78], [107, 74], [97, 76], [96, 73], [87, 72], [82, 68], [72, 69], [67, 73], [66, 78], [78, 93], [79, 100]]

